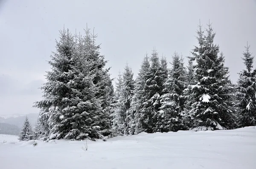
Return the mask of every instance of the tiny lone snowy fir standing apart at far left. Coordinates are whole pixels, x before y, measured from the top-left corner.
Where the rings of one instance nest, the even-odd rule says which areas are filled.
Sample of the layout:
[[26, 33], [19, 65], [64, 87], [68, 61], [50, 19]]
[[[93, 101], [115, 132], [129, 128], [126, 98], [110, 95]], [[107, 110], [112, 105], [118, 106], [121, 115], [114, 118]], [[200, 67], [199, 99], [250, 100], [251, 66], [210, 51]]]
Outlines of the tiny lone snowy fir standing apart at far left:
[[23, 126], [20, 130], [20, 135], [18, 138], [20, 141], [29, 141], [33, 139], [32, 127], [29, 123], [29, 119], [26, 116]]

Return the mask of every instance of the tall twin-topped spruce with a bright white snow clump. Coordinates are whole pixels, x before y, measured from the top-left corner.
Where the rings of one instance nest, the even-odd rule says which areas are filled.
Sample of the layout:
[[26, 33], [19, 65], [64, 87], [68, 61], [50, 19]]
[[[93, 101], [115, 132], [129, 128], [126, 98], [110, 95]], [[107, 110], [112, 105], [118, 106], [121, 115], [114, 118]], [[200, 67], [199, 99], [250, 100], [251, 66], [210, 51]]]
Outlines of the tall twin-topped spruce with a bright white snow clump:
[[191, 107], [185, 111], [196, 130], [223, 130], [235, 126], [232, 108], [232, 94], [228, 68], [224, 66], [224, 56], [219, 46], [214, 44], [215, 33], [209, 24], [204, 35], [199, 25], [198, 43], [192, 51], [195, 65], [195, 84], [189, 85]]

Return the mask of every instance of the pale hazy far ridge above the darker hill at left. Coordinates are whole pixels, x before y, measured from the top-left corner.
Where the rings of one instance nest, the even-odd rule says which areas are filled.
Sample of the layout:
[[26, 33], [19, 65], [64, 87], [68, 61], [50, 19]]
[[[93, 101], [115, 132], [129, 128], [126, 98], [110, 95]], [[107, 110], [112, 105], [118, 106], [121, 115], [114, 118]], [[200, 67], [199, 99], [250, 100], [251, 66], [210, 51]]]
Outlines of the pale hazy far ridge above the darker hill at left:
[[[13, 124], [13, 125], [16, 125], [18, 128], [21, 128], [23, 126], [25, 117], [26, 115], [20, 115], [15, 117], [0, 117], [0, 123]], [[31, 126], [35, 127], [38, 114], [37, 113], [27, 114], [27, 117], [29, 118], [29, 122]]]

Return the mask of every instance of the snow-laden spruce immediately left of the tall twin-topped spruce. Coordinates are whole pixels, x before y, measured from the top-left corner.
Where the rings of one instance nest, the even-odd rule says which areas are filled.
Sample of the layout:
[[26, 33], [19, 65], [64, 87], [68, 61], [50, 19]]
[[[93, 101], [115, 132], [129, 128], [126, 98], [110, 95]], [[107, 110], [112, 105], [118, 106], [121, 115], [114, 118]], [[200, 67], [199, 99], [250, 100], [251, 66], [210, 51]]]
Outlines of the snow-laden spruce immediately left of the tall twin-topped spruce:
[[183, 90], [186, 81], [186, 70], [183, 58], [175, 52], [172, 57], [172, 69], [165, 82], [164, 94], [160, 97], [160, 111], [158, 112], [157, 131], [169, 132], [184, 129], [183, 109], [185, 99]]

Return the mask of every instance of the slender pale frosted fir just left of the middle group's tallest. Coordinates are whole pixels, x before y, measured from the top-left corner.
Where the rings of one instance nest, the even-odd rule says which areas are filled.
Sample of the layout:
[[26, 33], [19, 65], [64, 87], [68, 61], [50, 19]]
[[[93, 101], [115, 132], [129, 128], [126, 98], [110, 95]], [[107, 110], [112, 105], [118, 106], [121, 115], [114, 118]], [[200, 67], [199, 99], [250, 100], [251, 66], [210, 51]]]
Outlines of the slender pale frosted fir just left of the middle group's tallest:
[[128, 126], [129, 134], [138, 134], [143, 131], [142, 125], [140, 123], [141, 108], [142, 104], [145, 101], [145, 83], [146, 83], [146, 73], [150, 68], [150, 62], [148, 54], [143, 58], [143, 62], [140, 66], [138, 76], [134, 85], [134, 95], [131, 98], [131, 107], [128, 110]]

